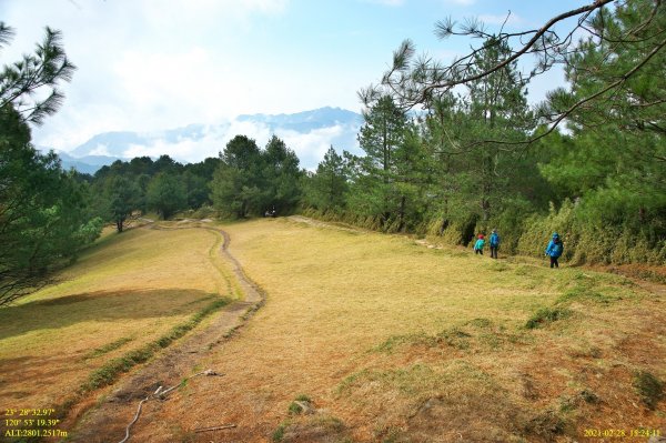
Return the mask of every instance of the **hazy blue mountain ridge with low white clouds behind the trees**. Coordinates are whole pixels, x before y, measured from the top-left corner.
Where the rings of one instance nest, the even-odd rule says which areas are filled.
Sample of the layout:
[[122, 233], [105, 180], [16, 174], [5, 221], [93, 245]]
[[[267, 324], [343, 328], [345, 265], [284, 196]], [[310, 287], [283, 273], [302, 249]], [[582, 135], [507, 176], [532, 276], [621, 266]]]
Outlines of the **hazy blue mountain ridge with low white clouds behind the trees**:
[[[99, 168], [115, 160], [129, 160], [141, 155], [157, 158], [168, 154], [181, 162], [198, 162], [211, 154], [216, 155], [216, 152], [223, 150], [226, 142], [238, 134], [258, 139], [260, 145], [259, 139], [276, 134], [294, 149], [303, 167], [316, 168], [323, 152], [330, 145], [349, 151], [357, 149], [355, 139], [362, 123], [361, 114], [333, 107], [295, 113], [240, 114], [233, 120], [218, 124], [191, 123], [152, 132], [101, 132], [72, 150], [60, 151], [59, 154], [67, 169], [74, 168], [80, 172], [94, 173]], [[195, 159], [196, 157], [200, 158]]]

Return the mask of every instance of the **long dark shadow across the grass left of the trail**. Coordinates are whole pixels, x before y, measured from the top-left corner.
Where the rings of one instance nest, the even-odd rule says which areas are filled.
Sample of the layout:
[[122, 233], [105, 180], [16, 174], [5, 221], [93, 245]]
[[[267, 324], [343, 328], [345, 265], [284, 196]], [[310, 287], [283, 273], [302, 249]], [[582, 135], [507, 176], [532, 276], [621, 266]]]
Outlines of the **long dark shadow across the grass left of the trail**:
[[189, 315], [218, 295], [198, 290], [97, 291], [0, 309], [0, 340], [77, 323]]

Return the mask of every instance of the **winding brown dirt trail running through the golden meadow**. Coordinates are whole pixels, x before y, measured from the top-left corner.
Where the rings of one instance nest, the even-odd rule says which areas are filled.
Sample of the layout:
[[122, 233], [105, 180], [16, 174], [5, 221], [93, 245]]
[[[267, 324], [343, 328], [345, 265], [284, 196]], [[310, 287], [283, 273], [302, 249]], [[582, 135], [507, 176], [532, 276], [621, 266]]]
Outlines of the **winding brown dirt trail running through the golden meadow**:
[[[178, 228], [183, 229], [183, 228]], [[184, 228], [189, 229], [189, 228]], [[229, 252], [230, 236], [226, 232], [212, 228], [224, 239], [219, 253], [229, 264], [244, 300], [236, 301], [222, 309], [212, 324], [194, 332], [180, 343], [169, 348], [159, 358], [139, 369], [121, 381], [94, 410], [79, 421], [71, 433], [71, 442], [119, 442], [125, 436], [125, 427], [134, 416], [139, 402], [155, 392], [159, 386], [173, 386], [193, 374], [193, 368], [212, 348], [222, 342], [233, 330], [241, 326], [248, 315], [258, 310], [264, 301], [262, 290], [243, 272], [240, 263]], [[223, 376], [219, 377], [221, 381]], [[196, 383], [196, 381], [193, 381]], [[151, 410], [168, 407], [168, 403], [151, 400], [143, 406], [141, 421], [150, 421]], [[132, 441], [132, 439], [130, 439]]]

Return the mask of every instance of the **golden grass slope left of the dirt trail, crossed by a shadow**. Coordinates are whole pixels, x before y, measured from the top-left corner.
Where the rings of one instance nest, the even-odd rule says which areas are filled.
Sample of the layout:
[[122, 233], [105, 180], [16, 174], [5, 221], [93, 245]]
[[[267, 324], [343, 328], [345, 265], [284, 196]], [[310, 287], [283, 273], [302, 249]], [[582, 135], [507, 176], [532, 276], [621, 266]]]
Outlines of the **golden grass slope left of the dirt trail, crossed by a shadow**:
[[220, 244], [205, 230], [112, 233], [56, 284], [0, 309], [0, 404], [60, 405], [97, 387], [91, 376], [113, 359], [229, 295]]

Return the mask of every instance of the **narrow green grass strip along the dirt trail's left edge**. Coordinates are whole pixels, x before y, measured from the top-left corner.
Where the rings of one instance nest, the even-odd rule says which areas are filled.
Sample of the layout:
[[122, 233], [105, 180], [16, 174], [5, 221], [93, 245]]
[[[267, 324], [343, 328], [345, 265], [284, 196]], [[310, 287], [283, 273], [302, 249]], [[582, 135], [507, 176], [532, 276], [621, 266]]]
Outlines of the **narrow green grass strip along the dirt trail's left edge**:
[[169, 346], [173, 341], [180, 339], [185, 333], [194, 329], [203, 319], [225, 304], [228, 304], [226, 300], [216, 300], [205, 306], [202, 311], [192, 315], [192, 318], [185, 323], [173, 326], [167, 334], [158, 338], [144, 346], [125, 353], [123, 356], [110, 360], [103, 366], [90, 374], [88, 380], [80, 386], [80, 393], [91, 392], [113, 384], [120, 374], [130, 371], [137, 364], [147, 362], [160, 349]]

